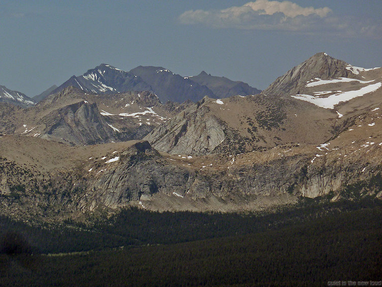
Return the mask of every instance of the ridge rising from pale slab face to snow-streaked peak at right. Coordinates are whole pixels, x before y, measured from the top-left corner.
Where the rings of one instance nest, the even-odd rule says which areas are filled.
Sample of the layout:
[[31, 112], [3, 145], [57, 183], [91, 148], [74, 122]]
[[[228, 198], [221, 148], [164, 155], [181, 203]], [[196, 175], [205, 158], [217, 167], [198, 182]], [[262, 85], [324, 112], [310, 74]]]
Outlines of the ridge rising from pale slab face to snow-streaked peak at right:
[[382, 69], [356, 68], [317, 53], [260, 95], [204, 98], [145, 139], [161, 151], [194, 155], [325, 143], [379, 103]]

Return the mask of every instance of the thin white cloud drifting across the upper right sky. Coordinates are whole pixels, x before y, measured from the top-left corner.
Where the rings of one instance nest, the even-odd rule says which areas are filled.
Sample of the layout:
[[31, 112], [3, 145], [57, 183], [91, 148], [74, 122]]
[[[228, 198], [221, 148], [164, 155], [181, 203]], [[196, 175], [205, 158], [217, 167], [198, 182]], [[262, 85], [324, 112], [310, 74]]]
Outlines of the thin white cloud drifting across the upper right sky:
[[179, 16], [183, 24], [217, 28], [281, 30], [341, 36], [381, 35], [381, 25], [360, 19], [340, 19], [329, 7], [302, 7], [291, 1], [256, 0], [222, 10], [189, 10]]

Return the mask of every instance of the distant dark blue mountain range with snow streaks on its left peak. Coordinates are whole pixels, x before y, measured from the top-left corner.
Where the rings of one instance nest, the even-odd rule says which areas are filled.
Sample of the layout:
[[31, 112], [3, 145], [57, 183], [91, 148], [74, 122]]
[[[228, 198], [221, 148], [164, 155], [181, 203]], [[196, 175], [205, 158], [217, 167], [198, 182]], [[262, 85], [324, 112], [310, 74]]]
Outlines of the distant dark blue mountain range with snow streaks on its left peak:
[[110, 65], [101, 64], [88, 70], [82, 76], [72, 76], [59, 87], [49, 88], [36, 96], [36, 100], [41, 101], [47, 95], [58, 93], [69, 86], [95, 94], [148, 91], [156, 94], [163, 103], [167, 101], [183, 103], [190, 100], [197, 102], [204, 96], [226, 98], [260, 92], [243, 82], [204, 74], [182, 77], [165, 68], [152, 66], [138, 66], [125, 72]]

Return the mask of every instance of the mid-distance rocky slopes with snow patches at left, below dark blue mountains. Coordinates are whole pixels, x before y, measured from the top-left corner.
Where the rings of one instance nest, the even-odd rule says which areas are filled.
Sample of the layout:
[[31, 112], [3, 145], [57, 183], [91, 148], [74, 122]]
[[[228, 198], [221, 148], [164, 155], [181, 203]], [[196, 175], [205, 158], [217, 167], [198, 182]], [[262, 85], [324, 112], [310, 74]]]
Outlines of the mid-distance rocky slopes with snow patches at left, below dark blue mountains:
[[96, 95], [68, 87], [29, 109], [2, 104], [0, 132], [72, 145], [128, 141], [143, 138], [180, 107], [164, 106], [149, 92]]

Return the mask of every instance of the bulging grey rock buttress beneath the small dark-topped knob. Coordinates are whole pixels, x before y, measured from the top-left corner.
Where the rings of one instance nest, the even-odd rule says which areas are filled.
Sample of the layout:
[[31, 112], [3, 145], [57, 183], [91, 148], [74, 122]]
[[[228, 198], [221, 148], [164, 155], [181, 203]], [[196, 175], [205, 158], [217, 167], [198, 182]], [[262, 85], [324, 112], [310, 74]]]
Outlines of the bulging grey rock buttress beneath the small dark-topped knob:
[[169, 165], [147, 141], [135, 143], [118, 155], [113, 167], [89, 178], [86, 208], [117, 208], [158, 192], [184, 193], [187, 172]]

